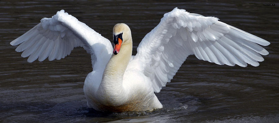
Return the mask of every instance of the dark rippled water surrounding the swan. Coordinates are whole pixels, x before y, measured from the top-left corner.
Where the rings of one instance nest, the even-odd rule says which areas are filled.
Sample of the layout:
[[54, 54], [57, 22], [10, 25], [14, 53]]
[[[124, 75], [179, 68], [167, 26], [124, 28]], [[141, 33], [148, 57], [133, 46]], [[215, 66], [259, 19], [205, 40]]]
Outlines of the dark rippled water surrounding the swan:
[[[263, 6], [275, 3], [276, 6]], [[279, 3], [243, 1], [0, 1], [0, 122], [278, 122]], [[260, 66], [220, 66], [190, 56], [157, 93], [164, 108], [154, 112], [103, 113], [87, 108], [83, 82], [90, 55], [35, 61], [9, 43], [61, 9], [112, 40], [116, 23], [130, 26], [133, 54], [163, 14], [178, 7], [215, 16], [271, 42]]]

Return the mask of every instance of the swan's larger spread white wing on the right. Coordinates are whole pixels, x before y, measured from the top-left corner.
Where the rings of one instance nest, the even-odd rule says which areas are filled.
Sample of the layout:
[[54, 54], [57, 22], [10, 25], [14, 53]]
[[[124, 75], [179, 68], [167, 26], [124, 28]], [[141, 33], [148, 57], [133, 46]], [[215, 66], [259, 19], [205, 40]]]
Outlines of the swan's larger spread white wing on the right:
[[270, 43], [218, 21], [215, 17], [190, 14], [175, 8], [139, 44], [135, 59], [153, 82], [155, 92], [173, 78], [189, 55], [219, 65], [259, 66], [260, 55]]

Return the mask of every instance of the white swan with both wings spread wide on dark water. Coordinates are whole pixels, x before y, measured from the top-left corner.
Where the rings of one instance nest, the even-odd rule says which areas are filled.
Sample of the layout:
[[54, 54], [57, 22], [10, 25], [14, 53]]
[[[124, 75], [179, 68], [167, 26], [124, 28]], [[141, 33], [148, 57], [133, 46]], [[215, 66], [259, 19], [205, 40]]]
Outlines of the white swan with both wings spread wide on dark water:
[[59, 60], [74, 47], [83, 47], [91, 54], [93, 68], [83, 87], [87, 105], [113, 112], [162, 108], [154, 92], [170, 82], [189, 55], [219, 65], [259, 66], [261, 55], [268, 54], [259, 45], [270, 44], [215, 17], [177, 8], [143, 38], [135, 56], [131, 57], [131, 30], [126, 24], [116, 24], [113, 35], [114, 49], [108, 39], [61, 10], [10, 44], [22, 43], [15, 50], [24, 51], [21, 56], [29, 56], [28, 62]]

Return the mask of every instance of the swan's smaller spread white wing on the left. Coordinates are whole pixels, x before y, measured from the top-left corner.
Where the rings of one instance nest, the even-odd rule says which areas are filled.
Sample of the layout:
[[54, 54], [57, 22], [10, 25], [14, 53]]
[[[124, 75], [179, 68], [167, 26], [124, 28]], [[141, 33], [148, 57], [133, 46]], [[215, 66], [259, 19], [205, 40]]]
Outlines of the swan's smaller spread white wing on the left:
[[29, 56], [28, 62], [37, 58], [43, 61], [47, 57], [49, 61], [60, 60], [70, 55], [74, 47], [81, 46], [91, 54], [92, 67], [97, 59], [107, 62], [113, 50], [108, 39], [64, 10], [58, 11], [51, 18], [43, 18], [41, 23], [10, 44], [20, 44], [15, 51], [24, 51], [21, 56]]

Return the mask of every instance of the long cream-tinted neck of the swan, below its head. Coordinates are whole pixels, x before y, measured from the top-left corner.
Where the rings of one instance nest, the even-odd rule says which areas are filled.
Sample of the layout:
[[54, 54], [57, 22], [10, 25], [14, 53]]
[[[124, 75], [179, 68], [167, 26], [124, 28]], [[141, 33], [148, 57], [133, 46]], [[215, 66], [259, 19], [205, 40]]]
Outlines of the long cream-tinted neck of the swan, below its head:
[[117, 55], [112, 55], [104, 70], [99, 89], [103, 91], [122, 91], [123, 75], [132, 55], [132, 39], [121, 45]]

